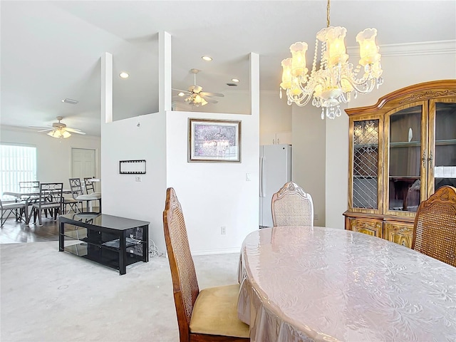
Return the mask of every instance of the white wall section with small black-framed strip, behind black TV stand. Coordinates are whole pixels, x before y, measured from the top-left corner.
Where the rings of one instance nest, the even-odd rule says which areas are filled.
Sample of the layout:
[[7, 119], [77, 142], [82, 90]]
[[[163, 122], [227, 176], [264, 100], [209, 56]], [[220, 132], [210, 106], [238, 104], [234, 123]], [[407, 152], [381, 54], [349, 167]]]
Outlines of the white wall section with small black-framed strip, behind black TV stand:
[[[101, 134], [103, 214], [150, 222], [149, 237], [164, 252], [165, 115], [153, 113], [113, 123], [102, 122]], [[120, 175], [120, 160], [146, 160], [146, 174]], [[135, 181], [136, 176], [141, 177], [141, 182]]]

